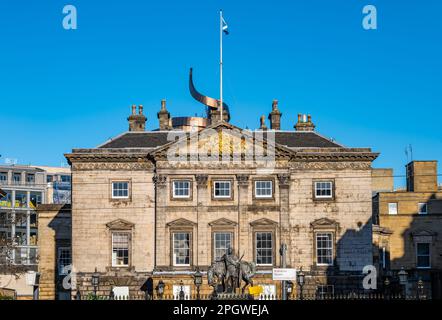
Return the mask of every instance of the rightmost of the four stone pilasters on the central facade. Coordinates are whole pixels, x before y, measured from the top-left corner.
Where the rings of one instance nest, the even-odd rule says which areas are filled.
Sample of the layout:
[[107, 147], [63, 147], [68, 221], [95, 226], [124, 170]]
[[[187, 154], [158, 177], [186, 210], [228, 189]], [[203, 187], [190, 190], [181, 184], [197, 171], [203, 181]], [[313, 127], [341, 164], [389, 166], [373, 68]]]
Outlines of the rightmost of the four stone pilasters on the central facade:
[[290, 174], [288, 173], [278, 174], [278, 183], [279, 183], [279, 206], [280, 206], [279, 237], [281, 239], [279, 245], [277, 245], [278, 258], [279, 258], [279, 248], [281, 247], [282, 243], [285, 243], [287, 245], [287, 252], [286, 252], [287, 267], [291, 267], [292, 264], [291, 252], [294, 248], [290, 239], [290, 205], [289, 205]]

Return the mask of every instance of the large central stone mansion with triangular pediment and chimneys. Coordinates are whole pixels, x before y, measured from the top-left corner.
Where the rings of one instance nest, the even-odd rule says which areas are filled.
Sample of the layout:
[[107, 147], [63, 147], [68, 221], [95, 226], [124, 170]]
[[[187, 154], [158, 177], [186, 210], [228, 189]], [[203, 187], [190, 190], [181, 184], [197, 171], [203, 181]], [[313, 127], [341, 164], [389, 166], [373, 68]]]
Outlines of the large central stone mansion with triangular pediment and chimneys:
[[[282, 243], [287, 266], [307, 274], [306, 293], [361, 289], [362, 269], [372, 264], [377, 154], [323, 137], [310, 116], [299, 117], [296, 131], [281, 130], [280, 116], [274, 101], [277, 130], [250, 132], [210, 117], [188, 130], [173, 126], [163, 101], [160, 130], [145, 131], [140, 110], [129, 132], [66, 154], [72, 295], [91, 292], [95, 271], [100, 294], [139, 294], [148, 278], [154, 286], [162, 280], [166, 293], [183, 281], [193, 294], [195, 270], [204, 273], [227, 247], [257, 264], [255, 285], [277, 294], [272, 268], [281, 266]], [[211, 290], [204, 277], [202, 293]]]

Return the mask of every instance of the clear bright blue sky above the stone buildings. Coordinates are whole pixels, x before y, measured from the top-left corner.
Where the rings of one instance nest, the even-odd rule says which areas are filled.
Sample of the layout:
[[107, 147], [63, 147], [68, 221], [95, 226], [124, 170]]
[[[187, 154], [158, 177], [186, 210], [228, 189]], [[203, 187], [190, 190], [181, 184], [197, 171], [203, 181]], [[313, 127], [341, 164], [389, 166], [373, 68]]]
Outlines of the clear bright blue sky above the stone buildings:
[[[77, 30], [62, 28], [66, 4]], [[377, 30], [362, 28], [367, 4]], [[127, 130], [131, 104], [148, 128], [163, 98], [172, 116], [201, 114], [188, 70], [217, 97], [220, 8], [233, 124], [258, 127], [278, 99], [283, 129], [310, 113], [318, 132], [381, 152], [374, 166], [397, 175], [409, 144], [415, 159], [442, 160], [441, 1], [2, 0], [0, 163], [60, 165]]]

